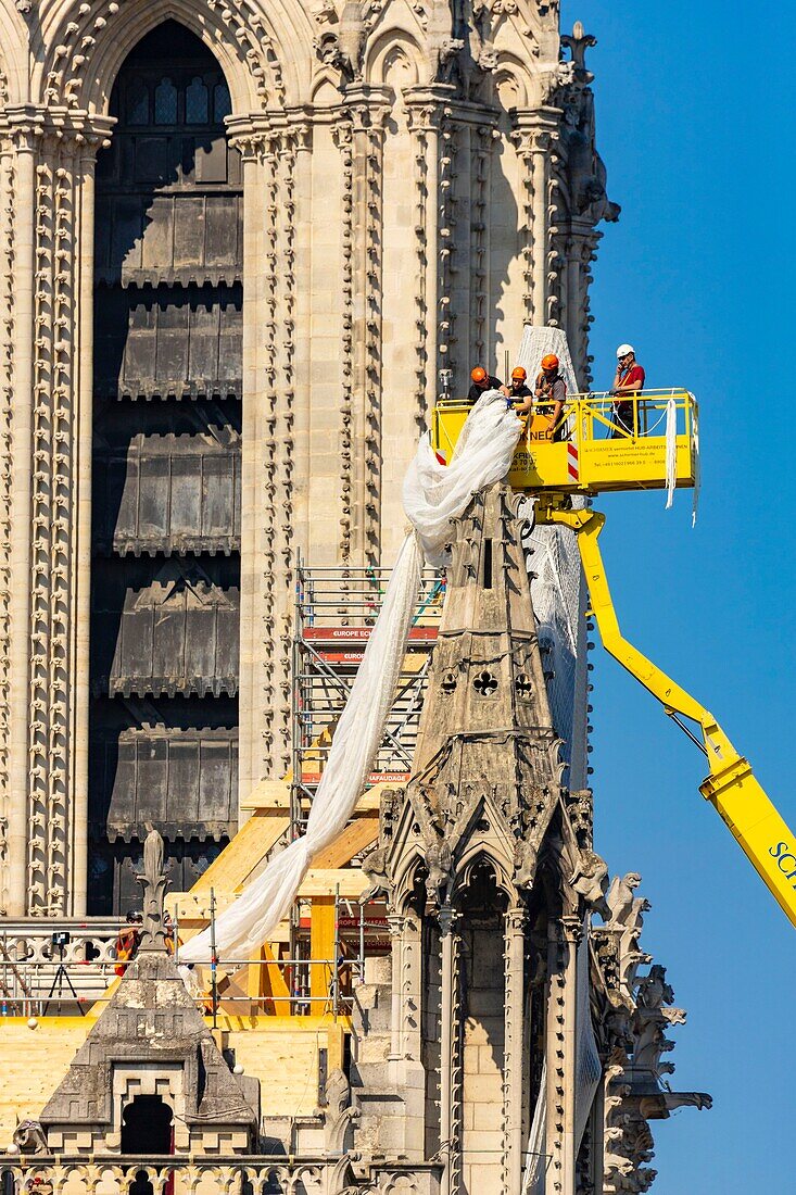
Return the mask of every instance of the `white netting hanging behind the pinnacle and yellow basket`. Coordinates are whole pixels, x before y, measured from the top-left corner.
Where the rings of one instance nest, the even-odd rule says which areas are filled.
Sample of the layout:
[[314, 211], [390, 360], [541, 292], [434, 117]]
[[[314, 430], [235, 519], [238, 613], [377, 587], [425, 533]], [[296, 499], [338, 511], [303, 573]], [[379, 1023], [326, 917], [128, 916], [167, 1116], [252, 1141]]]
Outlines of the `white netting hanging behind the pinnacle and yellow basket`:
[[[559, 327], [527, 326], [518, 361], [533, 382], [541, 358], [555, 353], [567, 393], [578, 392], [567, 337]], [[533, 500], [527, 500], [532, 519]], [[572, 504], [583, 504], [577, 496]], [[553, 727], [564, 742], [569, 786], [586, 788], [586, 586], [575, 533], [562, 527], [533, 527], [523, 538], [531, 599], [539, 629]]]

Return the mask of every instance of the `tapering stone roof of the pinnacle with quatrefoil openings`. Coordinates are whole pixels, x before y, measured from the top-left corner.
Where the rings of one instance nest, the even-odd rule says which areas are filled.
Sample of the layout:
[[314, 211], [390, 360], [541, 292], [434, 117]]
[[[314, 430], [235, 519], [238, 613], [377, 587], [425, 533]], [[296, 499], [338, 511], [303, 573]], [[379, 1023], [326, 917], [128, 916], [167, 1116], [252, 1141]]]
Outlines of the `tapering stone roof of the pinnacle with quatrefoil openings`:
[[[442, 895], [465, 839], [500, 839], [506, 878], [532, 880], [561, 799], [516, 497], [478, 494], [452, 537], [448, 592], [408, 797], [429, 887]], [[489, 823], [489, 832], [478, 827]]]

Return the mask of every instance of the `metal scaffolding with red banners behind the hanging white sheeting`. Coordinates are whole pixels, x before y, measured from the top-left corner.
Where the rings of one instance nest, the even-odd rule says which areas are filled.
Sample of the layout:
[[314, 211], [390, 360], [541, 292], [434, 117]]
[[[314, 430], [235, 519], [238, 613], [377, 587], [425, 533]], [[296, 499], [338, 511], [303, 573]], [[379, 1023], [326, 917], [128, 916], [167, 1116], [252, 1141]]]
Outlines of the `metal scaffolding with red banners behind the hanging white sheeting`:
[[[381, 609], [390, 569], [295, 570], [293, 638], [292, 832], [304, 826], [320, 782], [335, 725]], [[425, 682], [442, 613], [445, 581], [424, 569], [398, 691], [368, 785], [400, 784], [417, 741]]]

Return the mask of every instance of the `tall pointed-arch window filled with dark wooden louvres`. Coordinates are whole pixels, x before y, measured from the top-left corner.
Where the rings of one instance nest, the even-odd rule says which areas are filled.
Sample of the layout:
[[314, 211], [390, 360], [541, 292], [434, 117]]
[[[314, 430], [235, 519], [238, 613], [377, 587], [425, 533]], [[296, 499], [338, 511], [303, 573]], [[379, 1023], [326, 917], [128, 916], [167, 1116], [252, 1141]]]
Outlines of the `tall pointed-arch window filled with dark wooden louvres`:
[[178, 860], [172, 882], [190, 887], [238, 809], [243, 191], [229, 93], [202, 43], [166, 22], [123, 65], [111, 114], [94, 249], [93, 912], [139, 902], [147, 823]]

